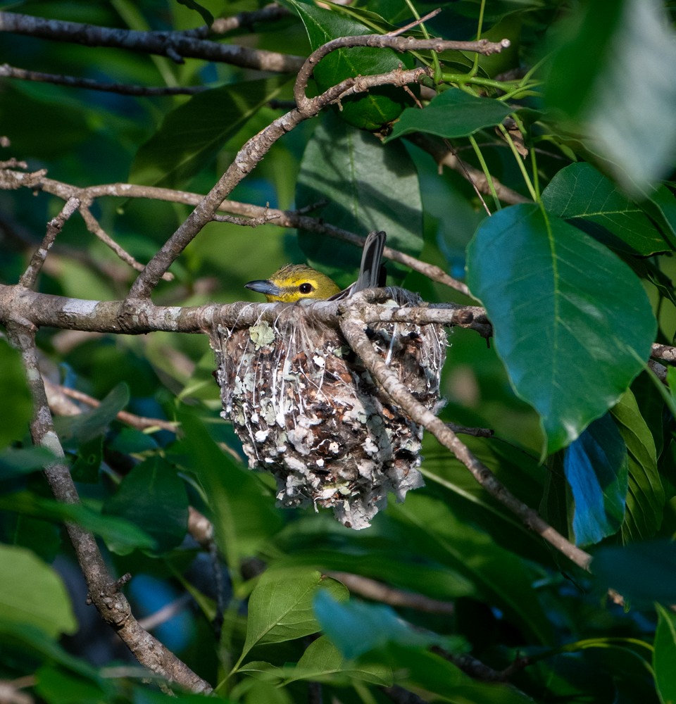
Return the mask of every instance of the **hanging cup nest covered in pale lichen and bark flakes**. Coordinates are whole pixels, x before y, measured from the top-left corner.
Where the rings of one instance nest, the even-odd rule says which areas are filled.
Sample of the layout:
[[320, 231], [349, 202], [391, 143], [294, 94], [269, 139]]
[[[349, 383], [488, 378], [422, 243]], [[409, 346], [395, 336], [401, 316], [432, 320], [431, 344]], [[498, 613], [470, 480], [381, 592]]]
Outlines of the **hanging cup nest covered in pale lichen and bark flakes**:
[[[402, 289], [389, 292], [392, 305], [420, 302]], [[444, 328], [377, 323], [367, 334], [411, 394], [434, 410]], [[273, 325], [219, 326], [211, 337], [221, 415], [232, 421], [249, 467], [275, 476], [282, 505], [332, 508], [339, 522], [361, 529], [389, 492], [403, 501], [423, 486], [422, 427], [376, 386], [339, 330], [296, 305]]]

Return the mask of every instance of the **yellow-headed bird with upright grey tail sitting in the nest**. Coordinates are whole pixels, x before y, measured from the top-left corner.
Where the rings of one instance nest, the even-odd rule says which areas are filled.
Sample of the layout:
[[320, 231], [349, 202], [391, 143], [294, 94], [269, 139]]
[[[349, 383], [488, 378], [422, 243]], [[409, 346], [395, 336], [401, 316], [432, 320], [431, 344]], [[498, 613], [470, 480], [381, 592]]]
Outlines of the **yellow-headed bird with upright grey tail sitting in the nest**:
[[336, 301], [346, 298], [362, 289], [370, 289], [380, 284], [382, 250], [385, 246], [384, 232], [370, 232], [364, 243], [361, 266], [356, 282], [342, 291], [327, 275], [305, 264], [287, 264], [277, 270], [269, 279], [258, 279], [244, 284], [246, 289], [263, 294], [268, 301], [294, 303], [301, 298], [330, 298]]

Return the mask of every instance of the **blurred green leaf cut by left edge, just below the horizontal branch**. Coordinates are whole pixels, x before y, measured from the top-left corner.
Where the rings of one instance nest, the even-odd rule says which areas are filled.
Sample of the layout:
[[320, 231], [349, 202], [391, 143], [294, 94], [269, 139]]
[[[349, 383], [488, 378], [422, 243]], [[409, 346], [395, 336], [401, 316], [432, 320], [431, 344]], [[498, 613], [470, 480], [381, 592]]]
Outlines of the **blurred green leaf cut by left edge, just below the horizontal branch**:
[[2, 403], [0, 404], [0, 449], [28, 434], [32, 401], [20, 353], [0, 339]]

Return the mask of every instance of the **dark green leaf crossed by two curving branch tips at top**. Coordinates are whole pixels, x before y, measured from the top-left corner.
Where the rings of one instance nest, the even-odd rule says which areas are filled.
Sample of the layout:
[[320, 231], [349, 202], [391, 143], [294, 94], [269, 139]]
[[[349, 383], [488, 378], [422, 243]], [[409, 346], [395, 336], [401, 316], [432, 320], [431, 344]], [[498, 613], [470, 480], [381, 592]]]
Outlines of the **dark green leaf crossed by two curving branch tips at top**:
[[[313, 49], [337, 37], [354, 37], [374, 34], [373, 29], [357, 20], [296, 0], [285, 3], [299, 14], [305, 25]], [[320, 92], [337, 85], [342, 80], [359, 75], [376, 75], [396, 70], [401, 65], [411, 64], [406, 54], [397, 54], [392, 49], [354, 47], [338, 49], [325, 56], [316, 65], [313, 77]], [[342, 99], [339, 115], [342, 120], [363, 130], [377, 130], [395, 120], [411, 99], [403, 88], [382, 86], [367, 93]]]

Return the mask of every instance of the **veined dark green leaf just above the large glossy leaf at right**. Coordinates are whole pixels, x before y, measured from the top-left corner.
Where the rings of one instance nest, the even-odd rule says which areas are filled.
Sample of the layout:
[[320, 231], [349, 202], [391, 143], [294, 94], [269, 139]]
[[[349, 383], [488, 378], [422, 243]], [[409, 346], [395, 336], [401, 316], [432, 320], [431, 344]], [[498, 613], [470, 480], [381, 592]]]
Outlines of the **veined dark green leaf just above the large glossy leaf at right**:
[[649, 256], [672, 248], [644, 211], [591, 164], [570, 164], [557, 172], [542, 191], [542, 203], [575, 225], [601, 225], [620, 240], [619, 246], [613, 246], [616, 241], [604, 242], [613, 249]]

